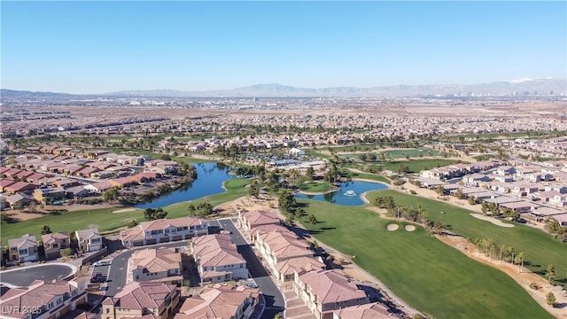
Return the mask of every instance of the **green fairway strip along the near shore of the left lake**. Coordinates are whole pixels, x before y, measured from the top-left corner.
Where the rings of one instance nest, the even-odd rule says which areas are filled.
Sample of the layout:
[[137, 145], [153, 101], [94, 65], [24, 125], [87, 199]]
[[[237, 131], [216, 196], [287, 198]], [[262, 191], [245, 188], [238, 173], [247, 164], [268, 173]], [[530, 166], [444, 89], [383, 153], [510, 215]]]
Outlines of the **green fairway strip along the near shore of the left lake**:
[[[212, 206], [220, 205], [224, 202], [241, 198], [247, 194], [245, 185], [250, 183], [243, 178], [235, 178], [225, 182], [226, 192], [210, 195], [205, 198], [177, 203], [162, 207], [167, 212], [167, 218], [187, 216], [190, 203], [198, 204], [206, 201]], [[64, 206], [62, 206], [63, 208]], [[24, 234], [34, 234], [40, 237], [43, 225], [50, 226], [53, 232], [66, 231], [72, 233], [75, 230], [82, 230], [89, 225], [95, 225], [99, 231], [116, 230], [124, 227], [129, 221], [135, 219], [137, 222], [144, 222], [144, 209], [136, 209], [134, 212], [113, 214], [113, 211], [124, 207], [111, 207], [102, 209], [92, 209], [78, 212], [69, 212], [60, 215], [47, 215], [25, 222], [4, 223], [2, 224], [2, 242], [7, 244], [8, 239], [21, 237]]]

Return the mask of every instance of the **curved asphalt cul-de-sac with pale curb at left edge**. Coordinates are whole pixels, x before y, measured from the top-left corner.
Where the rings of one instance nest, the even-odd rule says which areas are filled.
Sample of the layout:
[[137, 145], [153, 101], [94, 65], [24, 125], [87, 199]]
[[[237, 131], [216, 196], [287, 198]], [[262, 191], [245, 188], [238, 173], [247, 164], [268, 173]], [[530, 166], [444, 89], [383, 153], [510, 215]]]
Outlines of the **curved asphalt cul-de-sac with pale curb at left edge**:
[[65, 278], [73, 274], [74, 268], [65, 264], [42, 264], [31, 267], [7, 270], [0, 273], [0, 282], [16, 286], [28, 286], [34, 280], [47, 280]]

